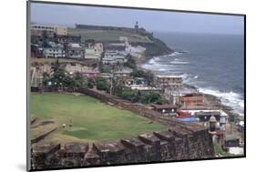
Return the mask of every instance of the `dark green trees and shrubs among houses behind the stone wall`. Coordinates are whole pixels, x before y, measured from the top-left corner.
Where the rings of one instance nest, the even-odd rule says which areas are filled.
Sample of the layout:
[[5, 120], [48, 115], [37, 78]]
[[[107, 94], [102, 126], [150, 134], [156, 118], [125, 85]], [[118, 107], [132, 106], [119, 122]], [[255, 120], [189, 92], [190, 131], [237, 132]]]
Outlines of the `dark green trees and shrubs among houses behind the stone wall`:
[[[134, 61], [130, 58], [128, 66], [132, 66]], [[125, 86], [125, 81], [120, 79], [113, 79], [111, 83], [104, 77], [97, 76], [95, 78], [85, 78], [81, 73], [75, 73], [71, 75], [67, 73], [65, 69], [60, 67], [58, 60], [52, 64], [52, 75], [44, 73], [43, 84], [45, 86], [52, 87], [96, 87], [98, 90], [107, 91], [111, 94], [120, 96], [131, 102], [138, 102], [142, 104], [162, 104], [163, 99], [159, 93], [144, 93], [139, 90], [133, 90]], [[145, 72], [144, 70], [138, 70], [135, 66], [133, 72], [130, 74], [133, 77], [144, 78], [148, 86], [154, 85], [154, 76], [151, 72]], [[139, 80], [137, 84], [139, 84]], [[110, 88], [111, 87], [111, 88]]]

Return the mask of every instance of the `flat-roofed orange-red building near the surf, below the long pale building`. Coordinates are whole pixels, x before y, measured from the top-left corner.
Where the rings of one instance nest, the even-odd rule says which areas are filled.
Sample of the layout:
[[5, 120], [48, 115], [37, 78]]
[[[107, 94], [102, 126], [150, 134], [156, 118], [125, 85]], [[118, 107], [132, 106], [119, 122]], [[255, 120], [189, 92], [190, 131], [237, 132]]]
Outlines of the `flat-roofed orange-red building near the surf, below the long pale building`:
[[204, 103], [204, 96], [200, 93], [193, 93], [181, 96], [180, 104], [182, 106], [200, 106]]

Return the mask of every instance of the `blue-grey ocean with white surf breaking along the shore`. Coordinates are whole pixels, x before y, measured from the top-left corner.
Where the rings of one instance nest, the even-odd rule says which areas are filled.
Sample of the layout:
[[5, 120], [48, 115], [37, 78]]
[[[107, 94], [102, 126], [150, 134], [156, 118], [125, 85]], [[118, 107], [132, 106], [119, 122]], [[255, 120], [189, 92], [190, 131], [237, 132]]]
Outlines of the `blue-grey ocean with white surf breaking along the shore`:
[[244, 37], [154, 33], [175, 50], [155, 56], [142, 67], [160, 75], [179, 75], [185, 83], [205, 94], [220, 97], [224, 105], [244, 114]]

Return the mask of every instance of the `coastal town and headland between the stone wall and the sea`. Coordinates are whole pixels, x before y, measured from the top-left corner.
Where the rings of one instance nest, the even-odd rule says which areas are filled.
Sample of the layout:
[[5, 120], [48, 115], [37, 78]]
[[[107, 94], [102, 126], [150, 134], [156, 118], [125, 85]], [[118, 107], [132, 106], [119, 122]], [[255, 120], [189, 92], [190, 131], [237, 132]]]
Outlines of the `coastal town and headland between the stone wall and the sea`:
[[[181, 76], [156, 76], [138, 66], [152, 56], [171, 53], [173, 50], [139, 27], [138, 22], [130, 28], [32, 24], [31, 91], [85, 92], [108, 106], [115, 106], [113, 102], [118, 100], [121, 108], [139, 107], [188, 127], [196, 124], [209, 128], [215, 157], [242, 155], [244, 124], [242, 119], [230, 117], [231, 109], [215, 97], [185, 85]], [[106, 97], [109, 102], [101, 100]], [[158, 116], [146, 116], [148, 123], [163, 123]], [[69, 126], [72, 125], [71, 119]]]

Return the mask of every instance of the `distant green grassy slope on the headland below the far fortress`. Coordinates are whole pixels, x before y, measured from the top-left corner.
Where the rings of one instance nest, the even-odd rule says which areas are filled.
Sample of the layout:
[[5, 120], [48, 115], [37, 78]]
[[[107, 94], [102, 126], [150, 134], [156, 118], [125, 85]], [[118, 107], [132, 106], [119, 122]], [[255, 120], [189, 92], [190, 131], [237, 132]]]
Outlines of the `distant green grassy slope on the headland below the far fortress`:
[[118, 41], [120, 36], [126, 36], [130, 42], [152, 43], [152, 41], [149, 40], [147, 36], [118, 30], [89, 30], [68, 28], [67, 32], [68, 35], [81, 35], [82, 42], [84, 42], [85, 39], [94, 39], [100, 42]]

